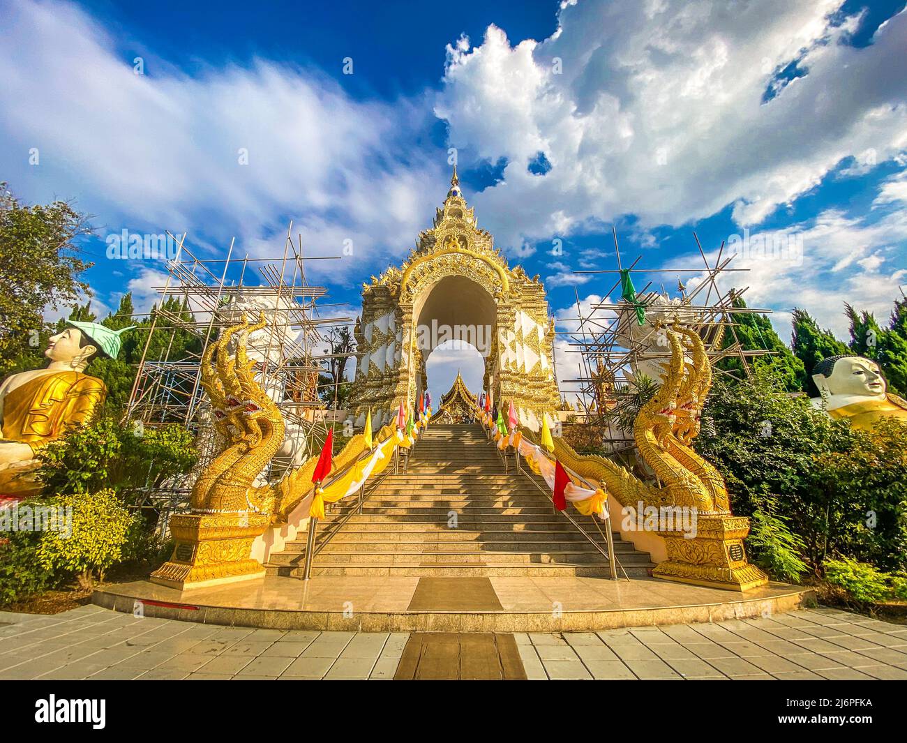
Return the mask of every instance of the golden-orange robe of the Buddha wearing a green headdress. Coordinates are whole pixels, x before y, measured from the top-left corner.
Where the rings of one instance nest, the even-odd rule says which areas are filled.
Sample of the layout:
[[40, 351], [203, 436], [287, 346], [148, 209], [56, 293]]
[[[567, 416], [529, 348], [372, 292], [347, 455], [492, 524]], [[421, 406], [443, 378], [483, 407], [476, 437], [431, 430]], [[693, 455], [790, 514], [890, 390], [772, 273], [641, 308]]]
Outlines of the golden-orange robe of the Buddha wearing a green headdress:
[[[18, 441], [36, 453], [60, 438], [66, 428], [90, 421], [107, 396], [107, 387], [76, 371], [37, 376], [6, 393], [3, 406], [5, 441]], [[37, 460], [26, 459], [0, 470], [0, 494], [32, 494]]]

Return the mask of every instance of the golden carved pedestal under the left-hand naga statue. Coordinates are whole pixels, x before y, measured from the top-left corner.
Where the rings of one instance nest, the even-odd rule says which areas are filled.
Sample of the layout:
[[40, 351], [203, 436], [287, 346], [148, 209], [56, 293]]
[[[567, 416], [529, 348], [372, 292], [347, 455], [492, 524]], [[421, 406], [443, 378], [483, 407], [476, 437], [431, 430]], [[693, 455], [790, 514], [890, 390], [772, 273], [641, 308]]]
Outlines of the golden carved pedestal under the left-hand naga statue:
[[168, 562], [151, 573], [151, 582], [186, 591], [247, 581], [265, 569], [249, 556], [252, 542], [270, 519], [258, 513], [178, 513], [170, 529], [176, 543]]

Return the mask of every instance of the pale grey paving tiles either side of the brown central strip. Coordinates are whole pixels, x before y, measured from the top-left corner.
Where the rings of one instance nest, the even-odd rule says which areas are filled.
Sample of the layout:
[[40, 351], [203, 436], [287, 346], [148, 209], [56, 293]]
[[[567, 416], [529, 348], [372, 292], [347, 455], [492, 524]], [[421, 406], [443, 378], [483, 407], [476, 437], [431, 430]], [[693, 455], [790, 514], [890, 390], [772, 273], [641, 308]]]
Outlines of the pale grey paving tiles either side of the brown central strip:
[[[393, 679], [408, 639], [0, 612], [0, 679]], [[529, 679], [907, 679], [907, 627], [831, 609], [514, 640]]]

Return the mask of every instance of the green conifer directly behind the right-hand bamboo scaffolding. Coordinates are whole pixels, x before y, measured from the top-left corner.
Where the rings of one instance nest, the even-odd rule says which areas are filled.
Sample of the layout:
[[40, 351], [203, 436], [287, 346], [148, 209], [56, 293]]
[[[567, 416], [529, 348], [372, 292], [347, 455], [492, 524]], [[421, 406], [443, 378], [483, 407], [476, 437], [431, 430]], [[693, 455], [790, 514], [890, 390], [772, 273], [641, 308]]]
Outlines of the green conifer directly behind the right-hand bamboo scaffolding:
[[[746, 301], [740, 296], [732, 300], [736, 308], [746, 308]], [[772, 321], [766, 315], [758, 312], [736, 312], [733, 316], [737, 324], [732, 334], [729, 330], [725, 333], [722, 347], [728, 348], [734, 344], [734, 335], [740, 342], [741, 349], [745, 351], [769, 351], [764, 357], [756, 357], [750, 363], [756, 370], [772, 368], [784, 380], [785, 390], [800, 392], [805, 387], [806, 373], [803, 362], [794, 356], [787, 344], [775, 333]], [[718, 366], [734, 373], [738, 378], [745, 376], [739, 358], [728, 357], [718, 362]]]

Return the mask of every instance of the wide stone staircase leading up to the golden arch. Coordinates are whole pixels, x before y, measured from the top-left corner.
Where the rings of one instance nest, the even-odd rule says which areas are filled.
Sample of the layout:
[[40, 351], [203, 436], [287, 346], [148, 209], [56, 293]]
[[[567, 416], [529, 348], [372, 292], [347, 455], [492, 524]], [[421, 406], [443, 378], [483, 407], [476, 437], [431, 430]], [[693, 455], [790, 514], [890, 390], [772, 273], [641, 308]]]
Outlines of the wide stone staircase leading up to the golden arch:
[[[387, 474], [346, 523], [355, 498], [318, 523], [317, 544], [327, 544], [312, 575], [608, 577], [607, 560], [510, 459], [508, 474], [478, 425], [430, 425], [408, 473]], [[574, 518], [607, 551], [591, 519]], [[648, 575], [649, 553], [613, 538], [629, 577]], [[305, 551], [305, 539], [287, 543], [268, 574], [302, 577]]]

